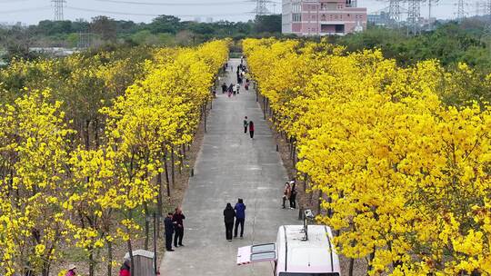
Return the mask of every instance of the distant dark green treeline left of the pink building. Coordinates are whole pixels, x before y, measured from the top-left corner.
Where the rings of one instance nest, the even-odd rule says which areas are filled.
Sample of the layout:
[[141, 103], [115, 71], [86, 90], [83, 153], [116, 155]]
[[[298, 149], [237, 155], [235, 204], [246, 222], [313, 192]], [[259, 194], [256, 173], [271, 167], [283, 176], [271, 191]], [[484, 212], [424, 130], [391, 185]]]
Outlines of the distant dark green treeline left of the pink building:
[[[257, 36], [260, 34], [280, 34], [281, 15], [261, 15], [248, 22], [219, 21], [199, 23], [181, 21], [173, 15], [160, 15], [150, 23], [115, 20], [101, 15], [91, 22], [44, 20], [38, 25], [0, 29], [5, 46], [16, 42], [28, 42], [30, 46], [75, 47], [90, 44], [201, 44], [214, 38]], [[82, 36], [81, 36], [82, 35]], [[81, 38], [82, 37], [82, 38]], [[1, 46], [1, 45], [0, 45]]]

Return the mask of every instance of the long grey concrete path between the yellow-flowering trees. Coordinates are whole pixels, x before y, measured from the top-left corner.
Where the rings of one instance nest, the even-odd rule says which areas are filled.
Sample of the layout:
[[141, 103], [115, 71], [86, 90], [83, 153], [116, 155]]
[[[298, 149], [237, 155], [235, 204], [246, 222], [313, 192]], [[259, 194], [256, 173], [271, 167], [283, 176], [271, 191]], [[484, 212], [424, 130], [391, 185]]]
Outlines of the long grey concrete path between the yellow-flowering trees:
[[[235, 70], [239, 63], [229, 62]], [[228, 71], [227, 84], [236, 83], [235, 70]], [[244, 133], [245, 115], [255, 123], [254, 140]], [[185, 247], [165, 253], [160, 274], [273, 275], [269, 262], [235, 264], [238, 247], [276, 242], [280, 225], [301, 223], [296, 210], [280, 208], [287, 174], [252, 87], [246, 92], [242, 86], [231, 98], [217, 90], [207, 130], [183, 203]], [[245, 239], [227, 242], [223, 211], [226, 202], [234, 206], [239, 197], [246, 203]]]

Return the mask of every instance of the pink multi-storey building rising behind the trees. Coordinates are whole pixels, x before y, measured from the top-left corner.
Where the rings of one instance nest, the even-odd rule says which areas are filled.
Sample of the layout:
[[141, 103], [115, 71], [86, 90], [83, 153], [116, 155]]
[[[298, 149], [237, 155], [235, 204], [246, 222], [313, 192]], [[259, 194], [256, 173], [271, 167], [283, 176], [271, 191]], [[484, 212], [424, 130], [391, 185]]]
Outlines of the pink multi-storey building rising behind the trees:
[[366, 29], [366, 7], [351, 0], [283, 0], [282, 33], [349, 34]]

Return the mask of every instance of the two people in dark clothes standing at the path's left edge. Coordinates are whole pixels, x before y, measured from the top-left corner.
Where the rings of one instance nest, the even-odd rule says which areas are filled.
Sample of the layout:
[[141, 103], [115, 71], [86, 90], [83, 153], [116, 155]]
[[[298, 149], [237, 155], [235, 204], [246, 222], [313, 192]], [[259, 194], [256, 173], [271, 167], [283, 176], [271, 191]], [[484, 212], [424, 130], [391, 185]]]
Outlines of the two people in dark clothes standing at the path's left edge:
[[175, 208], [175, 212], [168, 212], [164, 219], [165, 228], [165, 250], [174, 251], [172, 249], [172, 238], [174, 236], [174, 247], [184, 246], [184, 220], [185, 215], [180, 207]]

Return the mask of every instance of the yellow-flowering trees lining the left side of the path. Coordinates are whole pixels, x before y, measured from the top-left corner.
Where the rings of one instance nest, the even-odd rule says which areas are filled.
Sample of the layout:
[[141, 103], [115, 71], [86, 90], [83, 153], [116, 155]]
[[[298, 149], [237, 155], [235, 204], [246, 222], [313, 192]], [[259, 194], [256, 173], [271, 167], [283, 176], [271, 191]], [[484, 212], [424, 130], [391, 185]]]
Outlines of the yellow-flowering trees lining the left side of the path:
[[75, 247], [89, 275], [103, 263], [111, 275], [115, 244], [132, 252], [144, 233], [147, 249], [145, 217], [165, 209], [227, 56], [214, 41], [0, 71], [0, 273], [47, 276]]

